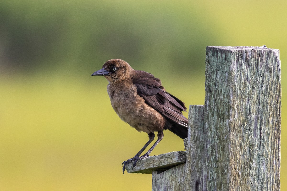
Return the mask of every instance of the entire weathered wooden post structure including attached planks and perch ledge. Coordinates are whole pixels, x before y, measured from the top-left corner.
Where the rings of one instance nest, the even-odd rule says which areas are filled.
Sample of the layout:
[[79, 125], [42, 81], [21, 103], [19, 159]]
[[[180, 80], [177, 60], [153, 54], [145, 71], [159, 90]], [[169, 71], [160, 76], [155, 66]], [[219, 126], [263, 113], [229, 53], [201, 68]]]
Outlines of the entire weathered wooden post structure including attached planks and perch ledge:
[[279, 50], [206, 49], [205, 105], [191, 105], [184, 151], [146, 158], [158, 190], [280, 190]]

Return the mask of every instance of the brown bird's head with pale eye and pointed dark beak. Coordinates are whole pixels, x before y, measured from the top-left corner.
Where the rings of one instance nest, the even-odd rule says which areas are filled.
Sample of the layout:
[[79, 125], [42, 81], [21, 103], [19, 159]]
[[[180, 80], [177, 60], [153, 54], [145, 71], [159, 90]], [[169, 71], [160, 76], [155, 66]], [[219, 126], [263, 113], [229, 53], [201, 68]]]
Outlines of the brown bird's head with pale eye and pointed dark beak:
[[94, 72], [91, 76], [104, 76], [109, 82], [120, 82], [131, 78], [131, 66], [121, 60], [112, 59], [104, 63], [102, 69]]

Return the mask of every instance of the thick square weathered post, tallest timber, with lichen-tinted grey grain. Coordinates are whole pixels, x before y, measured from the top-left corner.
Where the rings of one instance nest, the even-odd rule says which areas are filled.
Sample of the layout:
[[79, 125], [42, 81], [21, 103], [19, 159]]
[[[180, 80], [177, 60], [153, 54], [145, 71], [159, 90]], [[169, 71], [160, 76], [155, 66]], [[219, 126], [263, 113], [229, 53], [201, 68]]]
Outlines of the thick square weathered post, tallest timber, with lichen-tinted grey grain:
[[280, 190], [279, 50], [206, 48], [204, 190]]

